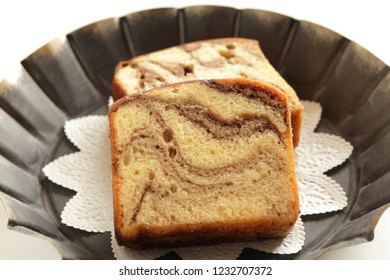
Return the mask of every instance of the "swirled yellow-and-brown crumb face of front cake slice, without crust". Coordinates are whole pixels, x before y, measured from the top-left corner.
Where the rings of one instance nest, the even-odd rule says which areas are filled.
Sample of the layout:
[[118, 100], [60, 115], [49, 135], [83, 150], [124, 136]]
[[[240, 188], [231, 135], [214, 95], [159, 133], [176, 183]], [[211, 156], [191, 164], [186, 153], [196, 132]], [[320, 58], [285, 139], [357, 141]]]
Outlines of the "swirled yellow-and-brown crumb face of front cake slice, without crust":
[[124, 223], [213, 222], [259, 211], [278, 218], [286, 197], [271, 200], [267, 193], [291, 184], [280, 176], [291, 171], [283, 104], [283, 96], [265, 86], [215, 82], [181, 83], [120, 101], [111, 122], [120, 131], [113, 165], [129, 210], [122, 212]]

